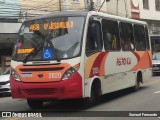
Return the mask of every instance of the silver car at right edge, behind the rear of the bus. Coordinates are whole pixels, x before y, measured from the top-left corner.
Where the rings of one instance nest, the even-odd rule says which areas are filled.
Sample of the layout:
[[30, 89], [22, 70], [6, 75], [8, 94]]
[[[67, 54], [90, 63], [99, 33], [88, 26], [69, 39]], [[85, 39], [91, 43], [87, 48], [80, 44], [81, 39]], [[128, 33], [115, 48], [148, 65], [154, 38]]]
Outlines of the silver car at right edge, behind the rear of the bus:
[[153, 74], [160, 73], [160, 52], [156, 52], [152, 57]]

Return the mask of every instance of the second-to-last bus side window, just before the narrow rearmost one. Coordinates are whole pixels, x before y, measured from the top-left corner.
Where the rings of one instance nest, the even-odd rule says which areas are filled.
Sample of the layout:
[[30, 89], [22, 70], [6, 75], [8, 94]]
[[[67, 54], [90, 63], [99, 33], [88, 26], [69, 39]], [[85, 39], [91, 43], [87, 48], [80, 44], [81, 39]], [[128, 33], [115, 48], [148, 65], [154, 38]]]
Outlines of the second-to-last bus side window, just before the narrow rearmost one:
[[134, 25], [134, 36], [135, 36], [136, 50], [138, 51], [146, 50], [144, 26], [135, 24]]

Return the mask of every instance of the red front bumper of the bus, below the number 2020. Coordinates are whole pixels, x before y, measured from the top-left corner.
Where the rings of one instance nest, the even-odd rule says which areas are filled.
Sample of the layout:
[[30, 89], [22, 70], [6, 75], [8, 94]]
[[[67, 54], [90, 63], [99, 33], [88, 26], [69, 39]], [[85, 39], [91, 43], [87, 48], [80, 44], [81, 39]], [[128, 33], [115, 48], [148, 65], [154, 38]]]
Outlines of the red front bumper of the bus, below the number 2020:
[[82, 98], [82, 78], [76, 72], [69, 79], [49, 83], [24, 83], [10, 76], [12, 98], [77, 99]]

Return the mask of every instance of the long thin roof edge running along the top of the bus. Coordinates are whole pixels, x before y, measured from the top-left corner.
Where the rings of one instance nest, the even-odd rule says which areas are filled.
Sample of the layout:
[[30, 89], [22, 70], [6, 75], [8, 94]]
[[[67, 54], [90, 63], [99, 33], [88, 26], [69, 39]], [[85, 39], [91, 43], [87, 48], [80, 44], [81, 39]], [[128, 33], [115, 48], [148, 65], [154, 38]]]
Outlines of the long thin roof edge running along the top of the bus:
[[[98, 15], [98, 16], [112, 18], [112, 19], [116, 19], [116, 20], [122, 20], [122, 21], [127, 21], [127, 22], [133, 22], [133, 23], [147, 25], [147, 23], [144, 22], [144, 21], [124, 18], [124, 17], [110, 15], [110, 14], [107, 14], [107, 13], [96, 12], [96, 11], [63, 11], [63, 12], [54, 12], [54, 13], [50, 13], [50, 14], [44, 14], [44, 15], [41, 15], [41, 16], [37, 16], [37, 17], [31, 18], [29, 20], [50, 18], [50, 17], [53, 17], [53, 16], [54, 17], [58, 17], [58, 16], [87, 16], [87, 15]], [[28, 21], [28, 20], [26, 20], [26, 21]]]

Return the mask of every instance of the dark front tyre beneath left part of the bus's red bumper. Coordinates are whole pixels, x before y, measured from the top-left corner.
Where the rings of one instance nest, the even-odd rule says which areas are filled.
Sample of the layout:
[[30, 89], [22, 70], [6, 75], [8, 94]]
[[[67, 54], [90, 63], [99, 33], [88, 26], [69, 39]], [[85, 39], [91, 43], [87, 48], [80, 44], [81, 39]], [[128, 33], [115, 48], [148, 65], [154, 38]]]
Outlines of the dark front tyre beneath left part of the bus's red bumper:
[[38, 109], [43, 106], [42, 100], [27, 99], [27, 103], [31, 109]]

